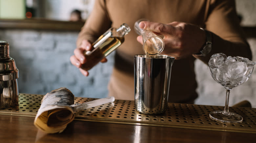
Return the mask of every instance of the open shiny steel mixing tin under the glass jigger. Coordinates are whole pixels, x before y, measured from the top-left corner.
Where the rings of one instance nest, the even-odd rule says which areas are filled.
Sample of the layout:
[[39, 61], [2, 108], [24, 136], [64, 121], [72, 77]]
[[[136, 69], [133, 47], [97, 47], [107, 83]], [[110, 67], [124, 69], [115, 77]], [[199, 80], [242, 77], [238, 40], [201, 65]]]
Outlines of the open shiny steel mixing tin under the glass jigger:
[[166, 111], [174, 57], [134, 56], [135, 109], [143, 114]]

